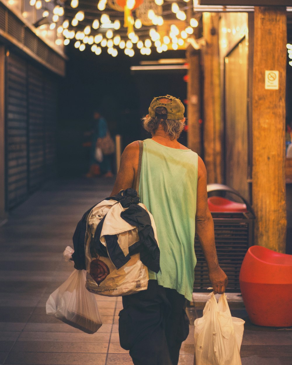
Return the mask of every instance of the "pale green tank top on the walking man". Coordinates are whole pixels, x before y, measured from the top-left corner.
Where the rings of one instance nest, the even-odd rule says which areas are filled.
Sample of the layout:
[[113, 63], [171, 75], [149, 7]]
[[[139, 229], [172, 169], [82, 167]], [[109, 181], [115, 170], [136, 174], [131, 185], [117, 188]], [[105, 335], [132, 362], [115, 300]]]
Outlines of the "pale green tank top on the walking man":
[[192, 150], [143, 141], [139, 195], [154, 217], [160, 248], [160, 271], [149, 270], [165, 288], [192, 300], [196, 255], [195, 215], [198, 155]]

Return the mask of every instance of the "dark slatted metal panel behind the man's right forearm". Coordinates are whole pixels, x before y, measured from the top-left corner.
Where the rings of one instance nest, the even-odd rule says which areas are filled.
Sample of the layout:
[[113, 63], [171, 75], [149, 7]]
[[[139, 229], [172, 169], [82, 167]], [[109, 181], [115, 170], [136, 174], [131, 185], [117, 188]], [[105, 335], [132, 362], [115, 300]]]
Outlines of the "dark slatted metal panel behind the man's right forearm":
[[[226, 291], [238, 292], [240, 291], [241, 264], [252, 242], [253, 219], [248, 216], [248, 213], [212, 213], [212, 216], [219, 265], [228, 276]], [[210, 281], [207, 264], [197, 237], [195, 238], [195, 253], [197, 265], [194, 291], [206, 291], [210, 286]]]

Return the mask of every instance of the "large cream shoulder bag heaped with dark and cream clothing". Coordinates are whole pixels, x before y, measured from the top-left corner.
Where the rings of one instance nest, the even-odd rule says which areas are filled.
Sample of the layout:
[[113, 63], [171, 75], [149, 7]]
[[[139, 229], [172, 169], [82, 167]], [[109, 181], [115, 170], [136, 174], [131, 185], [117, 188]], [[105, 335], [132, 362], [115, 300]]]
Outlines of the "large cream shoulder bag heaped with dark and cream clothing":
[[90, 292], [120, 296], [147, 289], [148, 269], [158, 273], [160, 251], [153, 216], [126, 189], [94, 205], [73, 235], [72, 259], [87, 270]]

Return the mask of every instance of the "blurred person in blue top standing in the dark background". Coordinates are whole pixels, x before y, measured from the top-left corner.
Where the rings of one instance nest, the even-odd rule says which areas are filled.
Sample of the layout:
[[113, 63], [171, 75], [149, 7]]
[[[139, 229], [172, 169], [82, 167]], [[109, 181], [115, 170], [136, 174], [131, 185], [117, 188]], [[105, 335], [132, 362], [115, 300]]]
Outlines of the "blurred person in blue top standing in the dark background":
[[101, 116], [99, 111], [93, 112], [93, 123], [92, 123], [92, 135], [91, 135], [91, 151], [90, 151], [90, 167], [86, 177], [113, 177], [111, 168], [111, 155], [103, 155], [102, 160], [99, 162], [96, 160], [96, 142], [97, 139], [106, 136], [108, 131], [107, 121]]

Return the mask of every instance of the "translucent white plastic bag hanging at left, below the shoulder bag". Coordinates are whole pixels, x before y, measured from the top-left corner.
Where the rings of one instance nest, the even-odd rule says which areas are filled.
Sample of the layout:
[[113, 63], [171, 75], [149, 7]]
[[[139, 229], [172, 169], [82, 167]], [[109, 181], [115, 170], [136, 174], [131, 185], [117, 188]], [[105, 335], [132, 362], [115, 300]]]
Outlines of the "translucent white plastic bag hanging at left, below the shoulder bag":
[[102, 325], [95, 295], [85, 288], [86, 271], [75, 270], [56, 289], [46, 303], [46, 312], [86, 333], [95, 333]]

